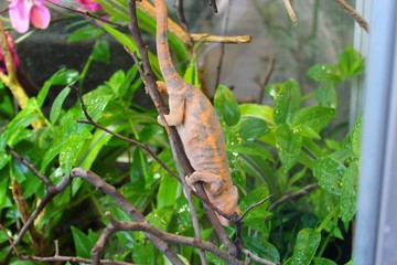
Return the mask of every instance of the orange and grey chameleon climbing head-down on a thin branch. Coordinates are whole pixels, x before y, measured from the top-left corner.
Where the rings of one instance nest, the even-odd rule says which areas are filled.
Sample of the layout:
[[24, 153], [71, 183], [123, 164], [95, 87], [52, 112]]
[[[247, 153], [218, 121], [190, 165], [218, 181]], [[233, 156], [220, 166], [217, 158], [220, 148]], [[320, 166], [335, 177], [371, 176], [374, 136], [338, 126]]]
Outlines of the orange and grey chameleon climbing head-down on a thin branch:
[[[158, 82], [160, 91], [169, 94], [170, 114], [164, 115], [169, 126], [175, 126], [186, 156], [195, 170], [189, 178], [192, 187], [202, 181], [210, 201], [224, 213], [239, 213], [238, 192], [233, 186], [225, 141], [219, 120], [207, 97], [183, 81], [175, 71], [167, 34], [168, 12], [163, 0], [154, 0], [157, 8], [157, 50], [165, 84]], [[159, 124], [164, 126], [161, 117]], [[229, 221], [218, 215], [223, 225]]]

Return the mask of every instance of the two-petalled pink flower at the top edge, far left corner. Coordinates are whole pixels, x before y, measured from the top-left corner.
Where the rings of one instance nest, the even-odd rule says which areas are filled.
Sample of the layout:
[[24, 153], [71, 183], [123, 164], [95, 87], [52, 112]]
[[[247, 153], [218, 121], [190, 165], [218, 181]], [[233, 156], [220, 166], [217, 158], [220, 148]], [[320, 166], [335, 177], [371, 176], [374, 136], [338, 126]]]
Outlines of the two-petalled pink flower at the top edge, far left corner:
[[29, 23], [37, 29], [45, 29], [50, 24], [50, 10], [44, 0], [9, 0], [9, 11], [12, 28], [19, 33], [29, 30]]

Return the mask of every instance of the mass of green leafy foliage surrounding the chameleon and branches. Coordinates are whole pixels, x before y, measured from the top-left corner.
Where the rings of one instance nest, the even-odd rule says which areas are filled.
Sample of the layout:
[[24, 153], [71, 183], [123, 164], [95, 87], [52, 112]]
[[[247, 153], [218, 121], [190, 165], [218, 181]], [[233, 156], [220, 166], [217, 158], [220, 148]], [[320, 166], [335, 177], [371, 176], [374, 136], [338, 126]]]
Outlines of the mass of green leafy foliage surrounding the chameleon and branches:
[[[98, 0], [105, 11], [117, 21], [129, 20], [126, 0]], [[154, 34], [154, 21], [139, 11], [141, 29]], [[103, 38], [109, 34], [121, 45], [137, 52], [135, 41], [119, 29], [98, 22], [76, 29], [68, 42], [95, 40], [83, 70], [60, 70], [43, 85], [28, 106], [14, 113], [12, 99], [0, 86], [0, 218], [12, 236], [19, 225], [19, 209], [9, 189], [12, 181], [21, 186], [30, 210], [35, 209], [45, 194], [44, 184], [30, 170], [12, 158], [9, 148], [58, 183], [74, 167], [93, 170], [115, 186], [154, 226], [169, 233], [194, 236], [190, 209], [179, 182], [148, 152], [126, 144], [92, 125], [77, 123], [86, 119], [82, 103], [66, 108], [65, 100], [73, 94], [69, 85], [78, 82], [83, 102], [92, 119], [109, 130], [133, 138], [157, 152], [176, 172], [164, 129], [157, 123], [157, 113], [132, 103], [142, 89], [138, 67], [116, 71], [109, 80], [90, 92], [83, 87], [93, 62], [108, 63], [110, 47]], [[184, 78], [200, 87], [197, 62], [193, 56], [187, 67], [186, 50], [171, 35], [171, 46], [184, 73]], [[182, 49], [181, 49], [182, 47]], [[139, 54], [138, 54], [139, 55]], [[160, 76], [158, 59], [149, 53], [154, 73]], [[272, 195], [254, 208], [244, 219], [242, 240], [253, 253], [273, 263], [335, 264], [323, 252], [333, 239], [343, 239], [356, 211], [362, 118], [344, 139], [335, 139], [326, 130], [337, 106], [337, 85], [363, 73], [364, 61], [351, 47], [340, 55], [337, 64], [310, 67], [308, 77], [318, 83], [315, 92], [302, 95], [294, 80], [267, 86], [273, 100], [271, 106], [238, 104], [233, 92], [219, 85], [214, 107], [223, 125], [234, 183], [238, 187], [242, 211]], [[43, 105], [50, 89], [64, 87], [52, 103], [49, 115]], [[318, 104], [308, 106], [305, 99], [315, 97]], [[37, 118], [44, 126], [33, 129]], [[280, 198], [310, 184], [319, 188], [303, 198], [276, 205]], [[204, 240], [213, 241], [214, 231], [205, 211], [194, 199]], [[104, 225], [109, 223], [105, 212], [119, 221], [131, 221], [111, 198], [95, 190], [81, 179], [58, 194], [36, 219], [35, 229], [42, 232], [45, 250], [60, 239], [61, 250], [71, 255], [89, 257]], [[62, 231], [55, 233], [54, 231]], [[226, 229], [229, 235], [235, 227]], [[0, 233], [0, 259], [8, 242]], [[21, 248], [33, 252], [29, 236]], [[173, 248], [186, 263], [198, 264], [197, 252], [184, 245]], [[50, 248], [49, 248], [50, 250]], [[49, 253], [47, 253], [49, 254]], [[50, 255], [50, 254], [49, 254]], [[120, 232], [107, 243], [106, 258], [133, 261], [137, 264], [168, 264], [159, 251], [141, 232]], [[222, 262], [207, 254], [214, 264]]]

